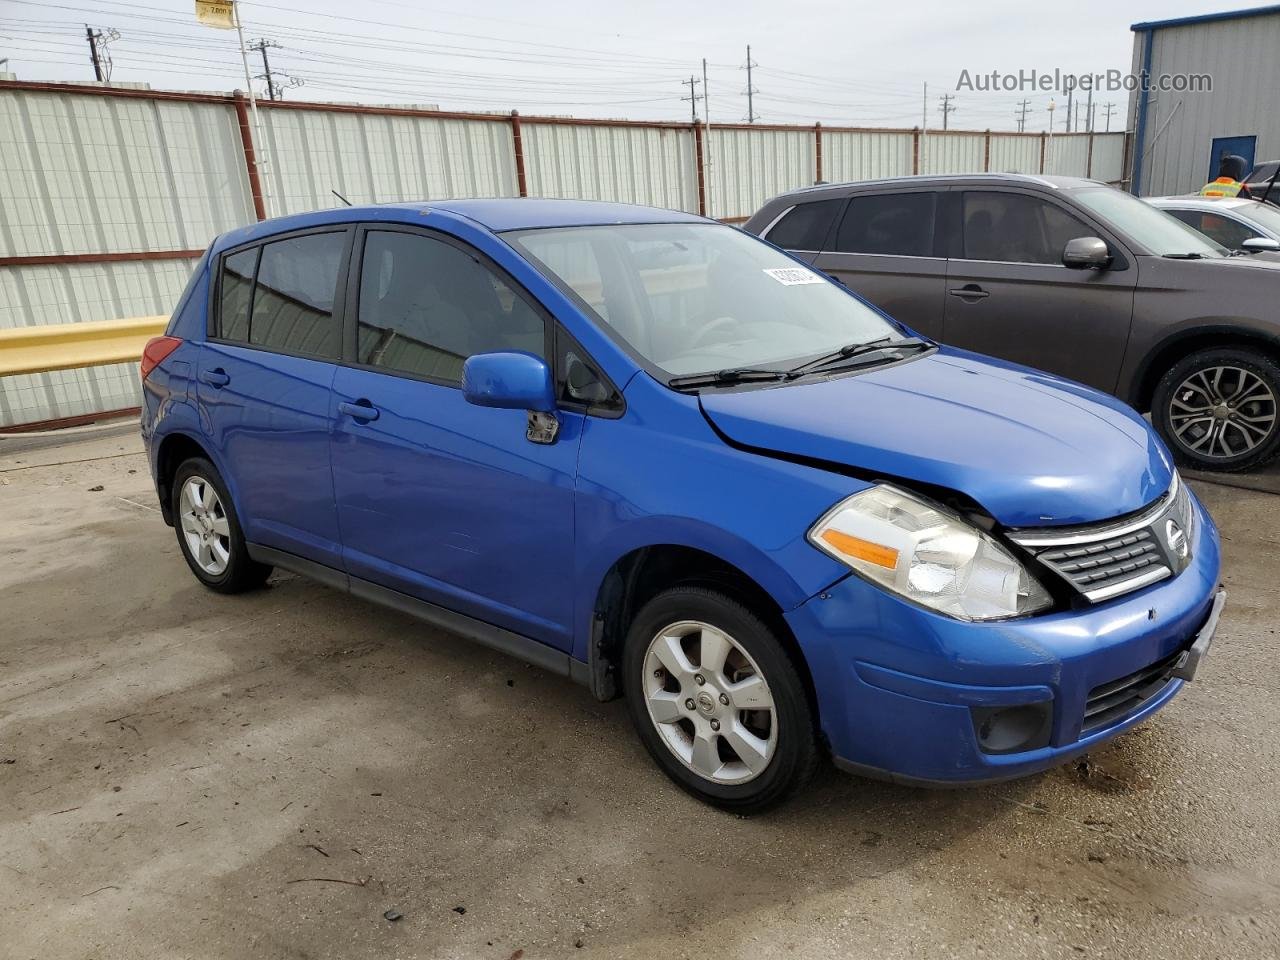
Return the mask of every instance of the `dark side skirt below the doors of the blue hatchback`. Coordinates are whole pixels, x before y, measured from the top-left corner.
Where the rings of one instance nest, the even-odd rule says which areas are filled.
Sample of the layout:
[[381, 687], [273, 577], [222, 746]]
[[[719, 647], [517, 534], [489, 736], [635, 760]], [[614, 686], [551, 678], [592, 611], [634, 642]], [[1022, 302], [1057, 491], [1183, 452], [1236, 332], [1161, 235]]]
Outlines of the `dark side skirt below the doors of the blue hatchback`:
[[246, 544], [246, 547], [248, 548], [248, 556], [259, 563], [269, 563], [273, 567], [288, 570], [335, 590], [349, 593], [362, 600], [370, 600], [383, 607], [390, 607], [401, 613], [407, 613], [411, 617], [425, 621], [431, 626], [448, 630], [451, 634], [458, 634], [460, 636], [465, 636], [467, 640], [472, 640], [493, 650], [504, 653], [508, 657], [515, 657], [525, 660], [526, 663], [532, 663], [535, 667], [541, 667], [543, 669], [558, 673], [562, 677], [570, 677], [584, 686], [591, 685], [590, 668], [588, 664], [575, 660], [567, 653], [524, 636], [522, 634], [497, 627], [483, 620], [476, 620], [475, 617], [468, 617], [465, 613], [451, 611], [447, 607], [420, 600], [416, 596], [410, 596], [399, 590], [392, 590], [381, 586], [380, 584], [370, 582], [369, 580], [348, 576], [340, 570], [334, 570], [333, 567], [326, 567], [323, 563], [316, 563], [315, 561], [297, 557], [292, 553], [285, 553], [284, 550], [278, 550], [274, 547], [264, 547], [262, 544], [256, 543]]

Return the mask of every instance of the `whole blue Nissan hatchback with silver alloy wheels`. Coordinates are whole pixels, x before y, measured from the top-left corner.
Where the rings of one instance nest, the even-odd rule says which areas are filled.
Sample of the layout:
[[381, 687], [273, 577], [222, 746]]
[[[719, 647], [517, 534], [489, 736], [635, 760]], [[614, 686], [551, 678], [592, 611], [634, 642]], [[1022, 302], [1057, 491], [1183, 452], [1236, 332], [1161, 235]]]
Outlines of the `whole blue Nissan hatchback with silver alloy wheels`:
[[732, 227], [552, 200], [233, 230], [142, 361], [192, 572], [273, 567], [625, 695], [713, 804], [956, 785], [1164, 707], [1219, 538], [1119, 401], [938, 346]]

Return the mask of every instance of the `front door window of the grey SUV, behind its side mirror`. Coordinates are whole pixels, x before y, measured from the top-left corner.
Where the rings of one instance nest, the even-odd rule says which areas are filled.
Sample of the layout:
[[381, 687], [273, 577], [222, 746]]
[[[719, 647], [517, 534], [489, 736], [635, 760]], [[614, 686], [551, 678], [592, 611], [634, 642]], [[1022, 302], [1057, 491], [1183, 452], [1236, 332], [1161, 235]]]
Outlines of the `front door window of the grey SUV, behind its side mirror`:
[[964, 195], [964, 259], [1010, 264], [1061, 264], [1062, 247], [1093, 237], [1061, 207], [1025, 193]]

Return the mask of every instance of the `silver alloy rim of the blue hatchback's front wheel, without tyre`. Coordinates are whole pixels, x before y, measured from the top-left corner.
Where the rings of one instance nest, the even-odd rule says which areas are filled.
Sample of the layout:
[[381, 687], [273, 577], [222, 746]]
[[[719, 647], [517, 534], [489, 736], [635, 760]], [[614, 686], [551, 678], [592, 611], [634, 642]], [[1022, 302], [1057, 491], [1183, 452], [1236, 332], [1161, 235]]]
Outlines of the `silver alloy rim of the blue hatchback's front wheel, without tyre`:
[[755, 660], [724, 631], [672, 623], [644, 658], [649, 718], [672, 754], [714, 783], [745, 783], [769, 765], [777, 710]]

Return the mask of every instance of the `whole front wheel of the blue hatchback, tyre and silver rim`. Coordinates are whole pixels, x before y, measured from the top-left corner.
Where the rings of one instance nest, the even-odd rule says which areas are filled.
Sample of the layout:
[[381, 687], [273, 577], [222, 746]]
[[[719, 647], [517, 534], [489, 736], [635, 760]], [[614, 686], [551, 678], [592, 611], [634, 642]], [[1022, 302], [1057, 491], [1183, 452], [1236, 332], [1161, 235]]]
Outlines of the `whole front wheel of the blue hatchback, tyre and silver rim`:
[[698, 799], [755, 813], [813, 776], [818, 742], [804, 684], [740, 603], [700, 588], [659, 594], [631, 625], [623, 669], [640, 740]]

